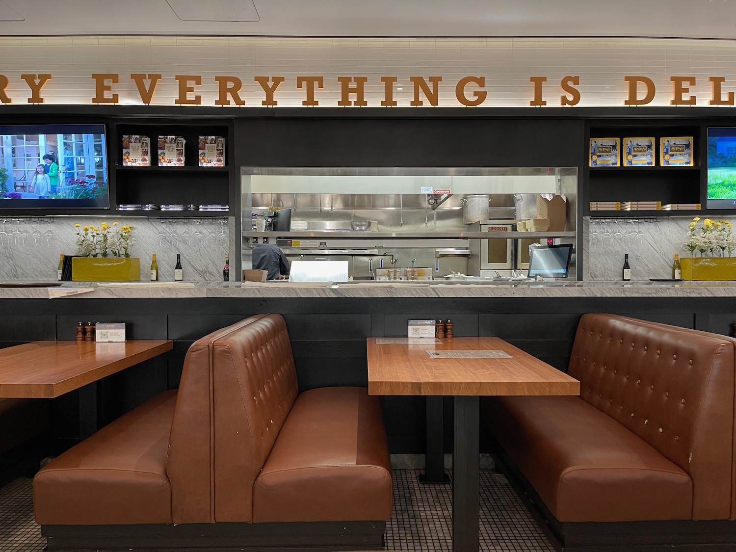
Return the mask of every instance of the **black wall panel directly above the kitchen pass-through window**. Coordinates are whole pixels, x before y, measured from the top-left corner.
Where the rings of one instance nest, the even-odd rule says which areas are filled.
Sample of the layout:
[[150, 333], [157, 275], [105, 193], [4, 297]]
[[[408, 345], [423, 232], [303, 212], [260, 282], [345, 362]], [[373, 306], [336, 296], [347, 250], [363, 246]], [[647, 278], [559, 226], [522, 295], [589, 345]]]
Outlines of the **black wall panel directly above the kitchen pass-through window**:
[[[496, 118], [263, 118], [236, 121], [248, 166], [579, 166], [584, 122]], [[544, 144], [543, 147], [535, 144]]]

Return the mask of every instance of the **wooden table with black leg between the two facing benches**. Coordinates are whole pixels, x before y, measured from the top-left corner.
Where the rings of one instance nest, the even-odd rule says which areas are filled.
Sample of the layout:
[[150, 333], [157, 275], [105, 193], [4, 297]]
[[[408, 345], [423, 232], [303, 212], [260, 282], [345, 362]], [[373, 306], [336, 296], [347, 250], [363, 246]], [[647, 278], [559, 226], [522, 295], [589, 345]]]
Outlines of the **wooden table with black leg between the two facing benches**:
[[[369, 394], [453, 395], [453, 550], [478, 552], [479, 397], [577, 395], [580, 382], [498, 337], [442, 344], [368, 343]], [[512, 358], [431, 358], [427, 350], [498, 350]]]

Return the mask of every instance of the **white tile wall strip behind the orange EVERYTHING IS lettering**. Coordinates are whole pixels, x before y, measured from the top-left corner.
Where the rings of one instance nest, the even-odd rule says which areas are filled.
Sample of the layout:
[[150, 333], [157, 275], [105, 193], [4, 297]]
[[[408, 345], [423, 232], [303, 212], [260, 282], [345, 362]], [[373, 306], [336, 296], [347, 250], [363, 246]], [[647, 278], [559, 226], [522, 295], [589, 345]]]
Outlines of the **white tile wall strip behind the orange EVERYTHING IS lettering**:
[[[174, 105], [176, 74], [202, 76], [197, 94], [202, 105], [218, 97], [216, 75], [243, 81], [246, 107], [261, 106], [264, 94], [253, 77], [286, 77], [277, 89], [281, 107], [300, 107], [305, 99], [297, 76], [319, 75], [324, 88], [316, 91], [320, 107], [336, 107], [342, 97], [337, 77], [364, 76], [366, 99], [378, 107], [383, 99], [381, 76], [398, 77], [403, 93], [394, 99], [408, 107], [413, 87], [408, 77], [439, 75], [440, 105], [460, 107], [455, 85], [465, 76], [486, 78], [484, 107], [528, 107], [529, 77], [545, 76], [543, 99], [559, 106], [559, 81], [579, 75], [580, 106], [623, 106], [626, 75], [644, 75], [657, 87], [652, 106], [670, 105], [673, 75], [692, 75], [690, 93], [697, 105], [707, 106], [710, 76], [725, 77], [723, 93], [736, 88], [736, 43], [731, 40], [675, 40], [659, 38], [277, 38], [277, 37], [2, 37], [1, 74], [10, 79], [6, 93], [15, 105], [26, 103], [29, 89], [24, 73], [51, 73], [43, 89], [47, 104], [91, 104], [92, 73], [117, 73], [114, 86], [119, 102], [141, 104], [131, 73], [163, 75], [153, 98], [155, 105]], [[609, 88], [606, 88], [609, 87]], [[472, 87], [469, 87], [469, 91]], [[1, 108], [1, 105], [0, 105]]]

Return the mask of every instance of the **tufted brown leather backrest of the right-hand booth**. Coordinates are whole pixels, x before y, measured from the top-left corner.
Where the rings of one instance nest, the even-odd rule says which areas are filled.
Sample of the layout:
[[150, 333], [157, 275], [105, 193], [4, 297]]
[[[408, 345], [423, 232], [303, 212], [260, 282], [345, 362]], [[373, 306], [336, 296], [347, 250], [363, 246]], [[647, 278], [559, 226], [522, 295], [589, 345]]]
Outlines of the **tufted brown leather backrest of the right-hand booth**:
[[612, 314], [581, 317], [580, 397], [693, 479], [693, 519], [733, 519], [736, 341]]

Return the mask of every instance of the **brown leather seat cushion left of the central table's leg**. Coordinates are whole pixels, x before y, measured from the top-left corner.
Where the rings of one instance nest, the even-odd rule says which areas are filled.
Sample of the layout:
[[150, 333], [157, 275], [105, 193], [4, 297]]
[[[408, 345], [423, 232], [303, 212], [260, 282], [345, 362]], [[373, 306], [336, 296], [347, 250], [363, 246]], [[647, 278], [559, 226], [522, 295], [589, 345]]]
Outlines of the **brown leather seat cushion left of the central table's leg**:
[[301, 393], [255, 480], [253, 521], [389, 519], [392, 476], [381, 428], [381, 403], [364, 387]]

